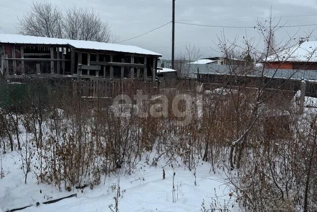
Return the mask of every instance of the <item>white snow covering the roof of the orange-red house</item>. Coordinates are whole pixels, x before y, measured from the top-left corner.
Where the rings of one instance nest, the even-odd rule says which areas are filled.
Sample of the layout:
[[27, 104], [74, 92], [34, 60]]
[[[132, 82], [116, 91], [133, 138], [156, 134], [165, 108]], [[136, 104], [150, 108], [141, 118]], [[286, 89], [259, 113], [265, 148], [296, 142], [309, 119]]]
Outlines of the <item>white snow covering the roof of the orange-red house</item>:
[[267, 57], [266, 61], [317, 62], [317, 41], [307, 41], [285, 49]]

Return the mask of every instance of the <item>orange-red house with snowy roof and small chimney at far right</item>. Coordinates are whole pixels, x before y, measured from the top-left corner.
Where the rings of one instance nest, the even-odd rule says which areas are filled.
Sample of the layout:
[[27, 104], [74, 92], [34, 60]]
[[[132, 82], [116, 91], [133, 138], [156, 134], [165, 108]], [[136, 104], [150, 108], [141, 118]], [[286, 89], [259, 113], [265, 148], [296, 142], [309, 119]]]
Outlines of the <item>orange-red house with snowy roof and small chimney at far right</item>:
[[267, 57], [264, 68], [317, 70], [317, 41], [305, 42], [302, 38], [298, 45]]

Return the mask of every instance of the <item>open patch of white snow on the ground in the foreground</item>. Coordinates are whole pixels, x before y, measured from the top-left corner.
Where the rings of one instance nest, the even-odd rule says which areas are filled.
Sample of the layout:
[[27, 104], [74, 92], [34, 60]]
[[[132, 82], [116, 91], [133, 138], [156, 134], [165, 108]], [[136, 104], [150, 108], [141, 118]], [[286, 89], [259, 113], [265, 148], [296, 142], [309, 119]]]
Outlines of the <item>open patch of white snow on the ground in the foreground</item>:
[[[114, 205], [114, 196], [117, 178], [113, 175], [104, 177], [102, 183], [93, 190], [89, 187], [71, 192], [59, 192], [53, 185], [38, 184], [32, 173], [24, 184], [19, 156], [16, 151], [2, 155], [4, 178], [0, 179], [0, 211], [21, 208], [28, 205], [25, 212], [104, 212], [109, 211], [109, 205]], [[175, 167], [175, 196], [172, 201], [173, 168], [165, 166], [165, 179], [162, 179], [161, 162], [157, 167], [150, 167], [145, 162], [140, 163], [136, 171], [129, 176], [120, 177], [121, 197], [119, 199], [120, 212], [195, 212], [200, 211], [203, 199], [206, 208], [209, 208], [211, 197], [218, 196], [221, 205], [228, 201], [229, 188], [224, 182], [224, 176], [210, 173], [211, 165], [200, 162], [196, 169], [196, 186], [193, 171], [185, 169], [184, 165]], [[112, 188], [112, 189], [111, 189]], [[77, 193], [78, 197], [68, 198], [53, 204], [40, 204], [61, 197]], [[230, 200], [230, 204], [233, 203]], [[230, 205], [229, 204], [229, 205]], [[231, 205], [230, 205], [231, 207]], [[234, 211], [237, 206], [231, 208]]]

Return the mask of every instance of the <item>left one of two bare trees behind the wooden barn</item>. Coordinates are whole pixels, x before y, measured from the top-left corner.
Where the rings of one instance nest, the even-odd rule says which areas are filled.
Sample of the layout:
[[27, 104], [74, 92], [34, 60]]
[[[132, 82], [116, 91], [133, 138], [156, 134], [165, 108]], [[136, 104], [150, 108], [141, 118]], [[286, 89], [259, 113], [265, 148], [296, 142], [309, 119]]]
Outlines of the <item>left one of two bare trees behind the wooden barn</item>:
[[62, 38], [62, 12], [51, 2], [35, 1], [19, 19], [19, 33], [49, 38]]

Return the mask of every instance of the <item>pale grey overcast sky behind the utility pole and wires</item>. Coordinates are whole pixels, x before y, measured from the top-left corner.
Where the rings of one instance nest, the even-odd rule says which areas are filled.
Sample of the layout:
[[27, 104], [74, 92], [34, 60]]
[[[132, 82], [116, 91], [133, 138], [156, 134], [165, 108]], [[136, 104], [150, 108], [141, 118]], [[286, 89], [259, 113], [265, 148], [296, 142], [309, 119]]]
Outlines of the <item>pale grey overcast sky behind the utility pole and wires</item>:
[[[61, 8], [72, 6], [92, 7], [100, 13], [120, 39], [125, 40], [154, 29], [171, 20], [171, 0], [54, 0]], [[31, 0], [0, 0], [1, 33], [16, 33], [18, 17], [30, 9]], [[256, 17], [267, 17], [272, 5], [272, 16], [284, 17], [286, 25], [302, 25], [317, 23], [317, 0], [176, 0], [175, 19], [194, 24], [255, 26]], [[228, 20], [231, 19], [231, 20]], [[232, 20], [235, 19], [235, 20]], [[265, 18], [261, 18], [265, 21]], [[288, 34], [297, 32], [297, 37], [305, 36], [305, 32], [313, 26], [282, 28], [275, 34], [276, 42], [287, 40]], [[236, 36], [242, 40], [247, 35], [254, 37], [259, 48], [264, 42], [256, 29], [213, 28], [175, 24], [176, 55], [184, 51], [185, 45], [195, 45], [203, 57], [221, 56], [217, 50], [217, 35], [224, 30], [226, 39]], [[316, 40], [317, 31], [311, 40]], [[164, 59], [171, 56], [171, 24], [139, 38], [121, 44], [136, 45], [158, 52]]]

